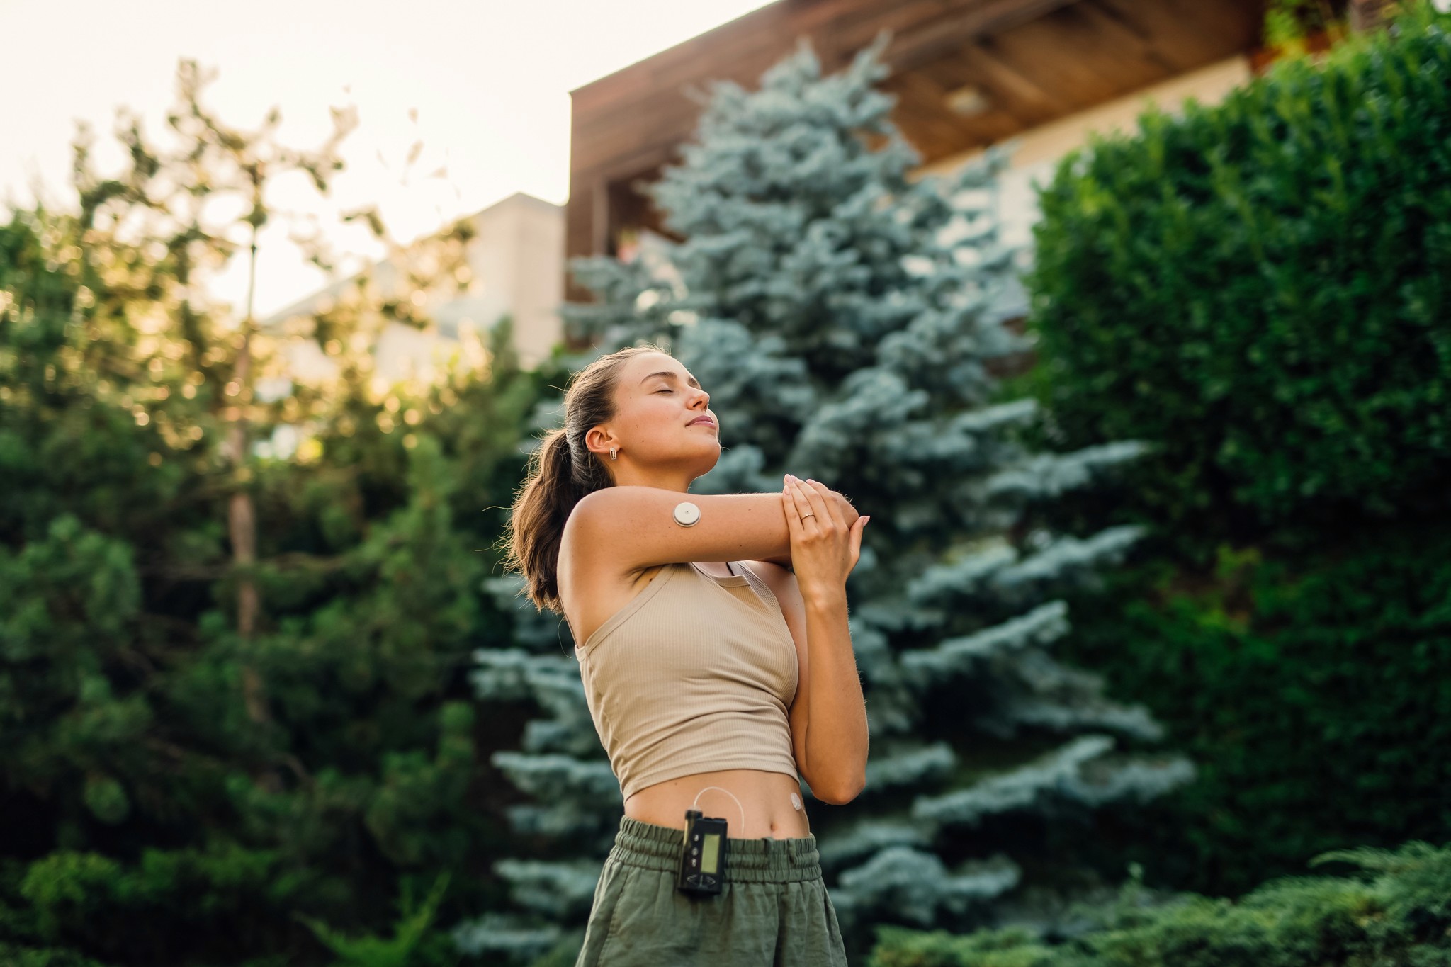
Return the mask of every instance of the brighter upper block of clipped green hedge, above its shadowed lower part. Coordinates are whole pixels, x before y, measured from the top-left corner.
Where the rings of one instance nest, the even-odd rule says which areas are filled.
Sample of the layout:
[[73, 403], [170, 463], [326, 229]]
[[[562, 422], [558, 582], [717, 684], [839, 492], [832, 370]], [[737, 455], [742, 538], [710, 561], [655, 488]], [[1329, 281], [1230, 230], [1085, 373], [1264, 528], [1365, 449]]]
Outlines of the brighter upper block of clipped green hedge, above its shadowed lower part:
[[1444, 510], [1451, 16], [1297, 58], [1071, 152], [1026, 277], [1068, 445], [1162, 444], [1125, 519], [1207, 563]]

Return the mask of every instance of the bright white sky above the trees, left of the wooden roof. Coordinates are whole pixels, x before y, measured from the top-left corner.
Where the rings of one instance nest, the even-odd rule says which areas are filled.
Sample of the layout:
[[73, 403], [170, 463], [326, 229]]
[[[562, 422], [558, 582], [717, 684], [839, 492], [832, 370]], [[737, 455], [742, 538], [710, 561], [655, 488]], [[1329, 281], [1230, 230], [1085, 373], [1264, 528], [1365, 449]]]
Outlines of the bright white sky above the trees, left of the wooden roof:
[[[274, 204], [326, 212], [377, 202], [393, 233], [412, 239], [514, 191], [563, 203], [569, 194], [569, 91], [765, 6], [762, 0], [0, 0], [7, 91], [0, 97], [0, 206], [29, 204], [33, 186], [71, 209], [75, 119], [94, 132], [103, 173], [122, 161], [116, 107], [144, 117], [151, 141], [171, 133], [178, 58], [216, 80], [203, 103], [223, 122], [258, 128], [281, 110], [279, 139], [313, 148], [332, 130], [329, 106], [355, 104], [335, 200], [311, 202], [305, 178], [279, 180]], [[409, 110], [416, 109], [416, 123]], [[422, 154], [400, 184], [411, 145]], [[165, 142], [164, 142], [165, 144]], [[382, 158], [380, 158], [382, 155]], [[447, 167], [445, 178], [427, 175]], [[0, 217], [6, 212], [0, 210]], [[258, 245], [257, 313], [325, 281], [279, 223]], [[367, 249], [360, 231], [332, 232]], [[242, 258], [216, 280], [241, 307]]]

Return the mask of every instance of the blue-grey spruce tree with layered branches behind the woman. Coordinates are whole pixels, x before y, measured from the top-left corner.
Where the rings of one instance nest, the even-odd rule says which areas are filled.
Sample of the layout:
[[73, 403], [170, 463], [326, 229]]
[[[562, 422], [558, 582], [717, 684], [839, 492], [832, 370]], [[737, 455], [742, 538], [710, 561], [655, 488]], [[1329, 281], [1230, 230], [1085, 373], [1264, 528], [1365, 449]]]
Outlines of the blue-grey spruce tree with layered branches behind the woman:
[[[698, 493], [778, 491], [789, 471], [872, 515], [847, 584], [866, 789], [811, 812], [853, 960], [876, 922], [1062, 929], [1094, 879], [1043, 855], [1045, 829], [1194, 774], [1181, 757], [1126, 748], [1159, 726], [1051, 654], [1069, 632], [1055, 594], [1093, 583], [1142, 535], [1058, 535], [1032, 509], [1143, 447], [1019, 442], [1040, 415], [1030, 400], [994, 402], [990, 371], [1029, 348], [1001, 310], [1017, 280], [997, 222], [1011, 145], [950, 178], [911, 177], [918, 158], [875, 87], [884, 43], [836, 75], [802, 45], [756, 91], [714, 86], [682, 162], [647, 188], [683, 241], [630, 262], [576, 260], [596, 302], [567, 307], [591, 355], [651, 342], [711, 391], [724, 447]], [[531, 648], [557, 648], [554, 622], [524, 644], [479, 654], [479, 693], [531, 693], [554, 718], [495, 761], [537, 799], [517, 828], [567, 839], [579, 860], [498, 871], [546, 922], [582, 925], [620, 787], [573, 657]], [[495, 921], [496, 935], [511, 924]]]

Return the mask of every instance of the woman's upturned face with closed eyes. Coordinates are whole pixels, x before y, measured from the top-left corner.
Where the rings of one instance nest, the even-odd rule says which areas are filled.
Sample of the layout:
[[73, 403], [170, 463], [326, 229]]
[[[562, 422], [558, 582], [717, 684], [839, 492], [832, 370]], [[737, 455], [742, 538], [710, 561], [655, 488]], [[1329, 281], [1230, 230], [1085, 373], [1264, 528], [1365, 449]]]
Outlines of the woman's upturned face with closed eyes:
[[[685, 490], [711, 471], [721, 454], [710, 393], [678, 360], [663, 352], [631, 357], [615, 387], [615, 418], [602, 423], [612, 438], [596, 447], [617, 484]], [[593, 444], [593, 441], [591, 441]], [[618, 460], [609, 461], [609, 448]]]

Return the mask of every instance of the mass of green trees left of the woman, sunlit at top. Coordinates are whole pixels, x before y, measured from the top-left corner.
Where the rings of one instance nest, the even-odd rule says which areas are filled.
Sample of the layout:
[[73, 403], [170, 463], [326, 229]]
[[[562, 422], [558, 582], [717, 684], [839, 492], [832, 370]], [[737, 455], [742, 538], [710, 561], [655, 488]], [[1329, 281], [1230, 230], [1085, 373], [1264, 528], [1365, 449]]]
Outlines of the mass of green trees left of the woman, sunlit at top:
[[[429, 320], [369, 274], [284, 331], [203, 300], [268, 217], [273, 145], [178, 81], [180, 146], [123, 126], [103, 177], [81, 139], [78, 213], [0, 223], [0, 960], [448, 964], [438, 922], [488, 906], [502, 825], [466, 680], [511, 634], [480, 549], [548, 374], [503, 322], [476, 362], [379, 384], [373, 333]], [[234, 190], [235, 223], [189, 220]], [[399, 261], [451, 270], [464, 241]], [[261, 393], [293, 339], [337, 375]]]

